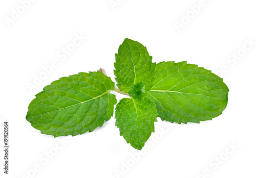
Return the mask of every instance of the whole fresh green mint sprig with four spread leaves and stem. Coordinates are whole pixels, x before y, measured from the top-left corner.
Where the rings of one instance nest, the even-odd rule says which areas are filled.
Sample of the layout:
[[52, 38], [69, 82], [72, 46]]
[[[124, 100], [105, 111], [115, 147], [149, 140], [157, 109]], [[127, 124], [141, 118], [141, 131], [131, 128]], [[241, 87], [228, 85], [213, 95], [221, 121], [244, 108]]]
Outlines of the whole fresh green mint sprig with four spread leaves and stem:
[[26, 119], [42, 134], [76, 136], [102, 126], [115, 108], [120, 136], [136, 149], [154, 132], [157, 117], [177, 123], [211, 120], [227, 106], [228, 87], [216, 74], [186, 62], [152, 62], [146, 47], [125, 39], [114, 63], [117, 86], [105, 71], [60, 78], [36, 94]]

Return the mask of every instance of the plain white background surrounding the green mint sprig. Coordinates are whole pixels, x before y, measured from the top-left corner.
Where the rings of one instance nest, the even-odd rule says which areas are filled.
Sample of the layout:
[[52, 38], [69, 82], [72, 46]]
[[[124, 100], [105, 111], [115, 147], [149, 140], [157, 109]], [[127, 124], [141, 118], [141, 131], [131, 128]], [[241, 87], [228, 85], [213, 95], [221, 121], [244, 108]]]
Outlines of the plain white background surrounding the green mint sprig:
[[[10, 170], [8, 176], [3, 173], [1, 151], [0, 177], [255, 177], [255, 2], [205, 0], [197, 14], [190, 12], [190, 6], [200, 4], [197, 0], [114, 2], [119, 6], [113, 9], [109, 0], [37, 0], [12, 19], [12, 9], [22, 5], [1, 1], [0, 133], [8, 120]], [[189, 21], [177, 29], [175, 23], [187, 13]], [[87, 39], [61, 61], [59, 50], [72, 44], [76, 34]], [[219, 74], [230, 89], [226, 110], [200, 124], [158, 118], [157, 135], [152, 134], [140, 158], [141, 151], [119, 136], [114, 117], [92, 133], [66, 137], [65, 146], [30, 125], [27, 107], [52, 81], [99, 68], [114, 81], [115, 53], [125, 38], [145, 45], [154, 62], [187, 61]], [[246, 40], [254, 42], [252, 47]], [[227, 61], [233, 53], [242, 54], [241, 59]], [[54, 60], [58, 67], [30, 91], [27, 85]], [[229, 144], [238, 148], [232, 151]], [[49, 151], [52, 159], [45, 155]], [[220, 156], [222, 164], [212, 161]]]

